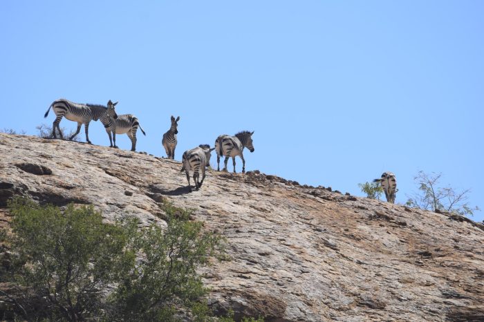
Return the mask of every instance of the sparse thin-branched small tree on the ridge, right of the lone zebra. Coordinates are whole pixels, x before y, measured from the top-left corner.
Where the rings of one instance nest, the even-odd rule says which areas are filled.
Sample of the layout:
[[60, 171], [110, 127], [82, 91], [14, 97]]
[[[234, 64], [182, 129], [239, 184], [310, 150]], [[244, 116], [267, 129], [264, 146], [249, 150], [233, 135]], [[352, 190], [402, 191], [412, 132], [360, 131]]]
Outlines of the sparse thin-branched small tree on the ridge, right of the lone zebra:
[[455, 214], [473, 215], [474, 211], [480, 210], [478, 207], [469, 205], [470, 189], [456, 191], [451, 187], [439, 187], [439, 180], [442, 173], [432, 173], [431, 175], [419, 171], [413, 179], [419, 184], [420, 193], [414, 193], [407, 200], [410, 207], [431, 211], [447, 211]]

